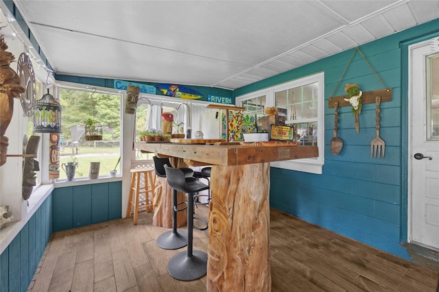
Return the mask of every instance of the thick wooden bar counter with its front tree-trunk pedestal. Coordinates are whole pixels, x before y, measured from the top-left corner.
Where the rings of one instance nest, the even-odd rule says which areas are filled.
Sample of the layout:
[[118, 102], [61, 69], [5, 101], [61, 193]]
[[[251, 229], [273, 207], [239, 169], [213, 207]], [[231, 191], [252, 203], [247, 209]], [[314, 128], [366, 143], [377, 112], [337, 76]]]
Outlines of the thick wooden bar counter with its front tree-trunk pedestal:
[[136, 149], [212, 165], [207, 291], [270, 291], [270, 162], [318, 156], [316, 146], [135, 143]]

